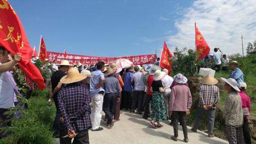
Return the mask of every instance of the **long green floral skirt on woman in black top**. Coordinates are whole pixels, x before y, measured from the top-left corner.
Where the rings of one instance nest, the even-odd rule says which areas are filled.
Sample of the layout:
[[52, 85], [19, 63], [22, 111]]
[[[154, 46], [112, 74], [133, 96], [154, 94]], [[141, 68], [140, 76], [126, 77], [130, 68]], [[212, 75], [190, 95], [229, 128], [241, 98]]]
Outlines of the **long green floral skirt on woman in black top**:
[[154, 91], [151, 99], [151, 119], [155, 121], [167, 120], [166, 109], [165, 109], [165, 99], [163, 93], [159, 91]]

